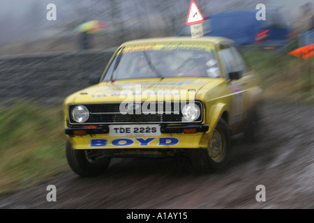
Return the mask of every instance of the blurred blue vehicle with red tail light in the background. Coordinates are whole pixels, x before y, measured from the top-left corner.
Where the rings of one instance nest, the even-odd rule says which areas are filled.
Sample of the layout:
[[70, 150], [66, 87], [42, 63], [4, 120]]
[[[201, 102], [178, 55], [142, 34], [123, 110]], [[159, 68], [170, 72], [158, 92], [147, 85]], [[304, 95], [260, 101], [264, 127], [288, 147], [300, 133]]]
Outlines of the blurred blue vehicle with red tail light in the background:
[[[285, 47], [293, 30], [276, 9], [266, 10], [266, 20], [256, 19], [257, 10], [238, 10], [212, 14], [204, 18], [204, 36], [223, 36], [237, 46], [279, 49]], [[181, 27], [176, 36], [190, 36], [190, 26]]]

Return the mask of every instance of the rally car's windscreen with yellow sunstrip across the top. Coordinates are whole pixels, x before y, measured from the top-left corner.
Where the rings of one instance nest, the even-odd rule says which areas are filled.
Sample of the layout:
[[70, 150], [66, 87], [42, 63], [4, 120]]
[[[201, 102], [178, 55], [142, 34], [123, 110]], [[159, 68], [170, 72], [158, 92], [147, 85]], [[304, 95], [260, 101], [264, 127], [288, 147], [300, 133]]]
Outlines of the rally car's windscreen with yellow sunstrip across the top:
[[120, 49], [103, 81], [151, 77], [220, 77], [214, 46], [196, 43], [132, 45]]

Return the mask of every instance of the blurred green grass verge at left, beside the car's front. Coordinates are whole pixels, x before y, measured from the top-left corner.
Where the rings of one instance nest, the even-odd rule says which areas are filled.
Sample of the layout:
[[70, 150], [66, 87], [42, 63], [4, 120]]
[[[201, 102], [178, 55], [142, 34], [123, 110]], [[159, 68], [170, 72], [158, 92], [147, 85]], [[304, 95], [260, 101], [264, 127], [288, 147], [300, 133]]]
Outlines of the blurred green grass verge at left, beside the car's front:
[[0, 109], [0, 194], [68, 169], [62, 112], [32, 103]]

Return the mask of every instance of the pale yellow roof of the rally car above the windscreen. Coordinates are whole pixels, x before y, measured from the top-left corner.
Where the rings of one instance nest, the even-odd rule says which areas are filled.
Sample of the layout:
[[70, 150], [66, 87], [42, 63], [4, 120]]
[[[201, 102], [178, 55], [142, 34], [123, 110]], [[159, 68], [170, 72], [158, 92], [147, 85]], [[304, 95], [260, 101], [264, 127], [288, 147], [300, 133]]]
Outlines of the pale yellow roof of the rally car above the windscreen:
[[200, 38], [190, 38], [187, 36], [180, 36], [180, 37], [162, 37], [162, 38], [146, 38], [146, 39], [139, 39], [139, 40], [130, 40], [126, 43], [123, 43], [121, 47], [127, 45], [137, 45], [137, 44], [149, 44], [149, 43], [174, 43], [174, 42], [186, 42], [186, 43], [212, 43], [217, 45], [219, 43], [230, 43], [234, 44], [233, 40], [228, 38], [220, 37], [220, 36], [202, 36]]

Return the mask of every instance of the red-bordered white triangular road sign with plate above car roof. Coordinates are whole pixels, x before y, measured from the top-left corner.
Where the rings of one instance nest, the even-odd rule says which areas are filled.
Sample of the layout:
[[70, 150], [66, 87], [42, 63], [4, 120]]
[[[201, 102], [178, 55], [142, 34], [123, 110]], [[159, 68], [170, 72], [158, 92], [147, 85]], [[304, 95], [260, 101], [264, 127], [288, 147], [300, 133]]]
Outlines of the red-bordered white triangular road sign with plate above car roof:
[[204, 22], [204, 17], [200, 13], [195, 1], [192, 0], [188, 10], [188, 17], [186, 18], [186, 25], [190, 26], [190, 35], [192, 38], [204, 36], [202, 22]]

